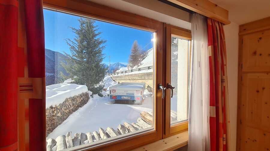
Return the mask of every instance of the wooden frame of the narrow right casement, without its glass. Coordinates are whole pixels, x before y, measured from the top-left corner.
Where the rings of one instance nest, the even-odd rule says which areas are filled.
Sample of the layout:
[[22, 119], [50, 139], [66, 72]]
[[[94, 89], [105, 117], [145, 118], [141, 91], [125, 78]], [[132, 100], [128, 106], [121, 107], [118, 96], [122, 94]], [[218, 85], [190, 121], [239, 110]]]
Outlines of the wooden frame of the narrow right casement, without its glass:
[[[165, 24], [165, 44], [166, 44], [166, 86], [170, 83], [171, 78], [171, 36], [176, 36], [178, 38], [183, 38], [187, 40], [191, 40], [191, 32], [190, 30], [186, 30], [180, 27], [176, 27], [170, 24]], [[191, 41], [190, 41], [191, 44]], [[190, 50], [189, 50], [190, 51]], [[188, 79], [187, 79], [188, 80]], [[187, 84], [188, 85], [188, 84]], [[164, 134], [163, 138], [170, 137], [172, 135], [179, 134], [181, 132], [188, 130], [188, 121], [182, 121], [171, 126], [170, 124], [170, 89], [166, 89], [165, 95], [165, 122], [164, 122]]]

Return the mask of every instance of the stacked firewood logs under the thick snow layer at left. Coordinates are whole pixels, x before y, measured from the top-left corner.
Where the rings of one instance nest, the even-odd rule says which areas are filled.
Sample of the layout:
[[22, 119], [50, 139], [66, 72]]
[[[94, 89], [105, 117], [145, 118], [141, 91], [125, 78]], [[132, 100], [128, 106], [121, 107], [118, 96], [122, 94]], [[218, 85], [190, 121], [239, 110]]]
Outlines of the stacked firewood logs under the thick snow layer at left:
[[89, 100], [87, 92], [66, 98], [65, 101], [58, 106], [50, 106], [46, 109], [46, 136], [49, 135], [58, 125], [60, 125], [67, 117], [85, 105]]

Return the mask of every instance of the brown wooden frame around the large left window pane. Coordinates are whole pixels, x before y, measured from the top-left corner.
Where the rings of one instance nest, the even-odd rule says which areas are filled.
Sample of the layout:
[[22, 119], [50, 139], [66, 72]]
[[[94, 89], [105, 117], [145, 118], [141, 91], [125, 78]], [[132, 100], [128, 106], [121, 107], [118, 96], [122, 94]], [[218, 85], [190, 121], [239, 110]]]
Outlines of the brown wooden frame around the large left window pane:
[[163, 23], [143, 16], [138, 16], [132, 13], [127, 13], [121, 10], [116, 10], [107, 6], [96, 4], [90, 1], [83, 0], [43, 0], [45, 9], [55, 10], [64, 13], [70, 13], [77, 16], [93, 18], [111, 22], [114, 24], [125, 25], [138, 29], [148, 30], [156, 33], [156, 55], [154, 66], [154, 91], [155, 91], [155, 106], [154, 106], [154, 129], [147, 132], [142, 132], [133, 136], [119, 138], [116, 141], [98, 145], [83, 145], [84, 147], [74, 147], [71, 150], [131, 150], [145, 144], [152, 143], [162, 139], [162, 98], [161, 91], [157, 88], [159, 83], [163, 82]]

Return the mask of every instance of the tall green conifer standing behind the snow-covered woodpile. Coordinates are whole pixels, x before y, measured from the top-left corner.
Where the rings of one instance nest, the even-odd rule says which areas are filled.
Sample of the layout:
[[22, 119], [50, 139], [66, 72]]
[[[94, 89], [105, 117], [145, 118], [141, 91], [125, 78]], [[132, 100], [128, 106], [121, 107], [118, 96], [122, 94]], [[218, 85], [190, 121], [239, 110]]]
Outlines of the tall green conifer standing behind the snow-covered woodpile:
[[67, 64], [61, 65], [69, 74], [67, 78], [75, 80], [76, 84], [86, 85], [88, 90], [94, 94], [99, 93], [103, 86], [100, 82], [103, 80], [107, 68], [101, 62], [104, 59], [104, 50], [106, 40], [99, 38], [101, 32], [98, 32], [95, 20], [78, 19], [80, 26], [78, 29], [70, 27], [76, 38], [66, 39], [70, 47], [70, 54], [67, 56]]

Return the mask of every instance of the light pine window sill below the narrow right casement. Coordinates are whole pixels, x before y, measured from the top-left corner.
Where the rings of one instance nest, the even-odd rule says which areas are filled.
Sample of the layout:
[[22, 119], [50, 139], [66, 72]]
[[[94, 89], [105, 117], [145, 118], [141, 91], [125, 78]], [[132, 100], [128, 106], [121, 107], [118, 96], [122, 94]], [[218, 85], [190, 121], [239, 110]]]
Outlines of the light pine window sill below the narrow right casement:
[[132, 151], [172, 151], [187, 145], [188, 131], [138, 147]]

